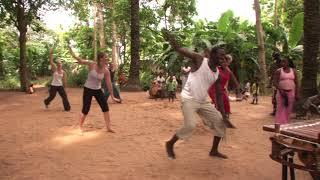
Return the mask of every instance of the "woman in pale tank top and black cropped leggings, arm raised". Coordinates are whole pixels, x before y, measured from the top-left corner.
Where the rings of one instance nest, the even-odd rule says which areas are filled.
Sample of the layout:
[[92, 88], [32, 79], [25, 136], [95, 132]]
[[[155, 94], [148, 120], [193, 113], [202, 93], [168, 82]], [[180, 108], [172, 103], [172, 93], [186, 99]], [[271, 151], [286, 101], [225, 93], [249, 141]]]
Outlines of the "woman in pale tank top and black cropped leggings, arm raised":
[[79, 127], [81, 132], [83, 132], [83, 123], [90, 110], [92, 97], [95, 97], [104, 114], [104, 120], [106, 122], [106, 131], [114, 133], [114, 131], [111, 129], [111, 124], [110, 124], [109, 107], [101, 89], [101, 81], [103, 78], [105, 78], [106, 86], [110, 92], [111, 98], [116, 102], [120, 101], [119, 99], [116, 99], [113, 96], [113, 89], [112, 89], [111, 80], [110, 80], [110, 72], [107, 69], [107, 55], [105, 53], [99, 52], [97, 56], [97, 62], [94, 62], [90, 60], [84, 60], [76, 56], [70, 47], [69, 47], [69, 51], [72, 57], [76, 59], [79, 64], [87, 65], [89, 67], [89, 74], [88, 74], [86, 83], [84, 84], [83, 98], [82, 98], [83, 99], [82, 113], [80, 115], [80, 121], [79, 121]]

